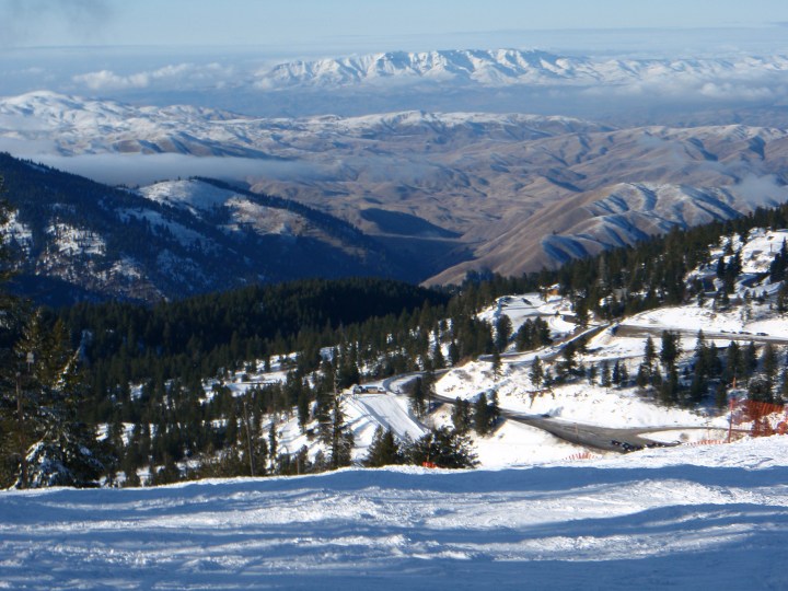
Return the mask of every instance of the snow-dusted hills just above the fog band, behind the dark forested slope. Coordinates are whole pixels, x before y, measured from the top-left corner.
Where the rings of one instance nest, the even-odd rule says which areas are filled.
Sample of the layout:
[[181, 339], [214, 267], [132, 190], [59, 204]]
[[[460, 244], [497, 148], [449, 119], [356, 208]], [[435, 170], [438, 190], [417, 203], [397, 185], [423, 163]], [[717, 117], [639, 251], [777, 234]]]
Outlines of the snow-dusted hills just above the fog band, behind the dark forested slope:
[[[525, 141], [607, 126], [572, 117], [403, 112], [359, 117], [258, 118], [210, 108], [135, 106], [51, 92], [0, 100], [0, 138], [21, 150], [51, 142], [62, 155], [179, 153], [289, 159], [341, 149], [348, 140], [436, 147], [479, 139]], [[405, 150], [408, 148], [405, 147]]]

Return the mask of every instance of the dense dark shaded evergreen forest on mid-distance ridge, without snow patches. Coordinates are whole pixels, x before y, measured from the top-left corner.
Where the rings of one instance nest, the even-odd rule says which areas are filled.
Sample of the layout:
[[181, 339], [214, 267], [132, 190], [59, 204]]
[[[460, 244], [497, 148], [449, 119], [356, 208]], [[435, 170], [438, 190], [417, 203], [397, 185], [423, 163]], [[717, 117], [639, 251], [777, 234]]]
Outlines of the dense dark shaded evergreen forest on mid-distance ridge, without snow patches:
[[407, 316], [448, 300], [445, 293], [385, 279], [314, 279], [154, 306], [83, 303], [53, 316], [81, 347], [96, 396], [103, 397], [128, 382], [189, 381], [292, 351], [316, 363], [320, 348], [358, 332], [360, 323]]

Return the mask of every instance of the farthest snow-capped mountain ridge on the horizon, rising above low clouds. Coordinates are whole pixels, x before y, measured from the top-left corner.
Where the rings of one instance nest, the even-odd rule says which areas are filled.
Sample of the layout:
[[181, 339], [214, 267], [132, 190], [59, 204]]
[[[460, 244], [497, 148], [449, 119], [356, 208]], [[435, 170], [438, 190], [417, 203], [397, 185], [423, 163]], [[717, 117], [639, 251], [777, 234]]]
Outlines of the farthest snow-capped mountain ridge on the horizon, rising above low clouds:
[[674, 78], [715, 79], [753, 72], [786, 72], [788, 58], [740, 59], [591, 59], [538, 50], [465, 49], [424, 53], [390, 51], [280, 63], [258, 71], [259, 89], [343, 86], [431, 81], [505, 86], [619, 85]]

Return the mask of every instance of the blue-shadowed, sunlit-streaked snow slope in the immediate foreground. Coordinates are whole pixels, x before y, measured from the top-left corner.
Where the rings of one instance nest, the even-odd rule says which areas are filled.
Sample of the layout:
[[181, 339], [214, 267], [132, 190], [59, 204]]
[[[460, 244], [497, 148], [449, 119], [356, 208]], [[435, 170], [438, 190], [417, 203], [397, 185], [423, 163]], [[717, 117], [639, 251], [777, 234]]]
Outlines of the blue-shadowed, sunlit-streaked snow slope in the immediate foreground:
[[0, 493], [0, 587], [779, 589], [788, 439], [522, 470]]

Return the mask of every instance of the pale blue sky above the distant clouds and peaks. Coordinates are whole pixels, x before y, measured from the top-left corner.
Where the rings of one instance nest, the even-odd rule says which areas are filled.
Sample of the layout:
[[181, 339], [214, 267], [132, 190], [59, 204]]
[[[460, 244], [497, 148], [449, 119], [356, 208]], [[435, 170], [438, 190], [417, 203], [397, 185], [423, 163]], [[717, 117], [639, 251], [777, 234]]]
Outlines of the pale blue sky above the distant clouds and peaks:
[[786, 22], [785, 0], [0, 0], [0, 45], [390, 45], [500, 31]]

